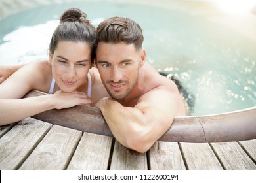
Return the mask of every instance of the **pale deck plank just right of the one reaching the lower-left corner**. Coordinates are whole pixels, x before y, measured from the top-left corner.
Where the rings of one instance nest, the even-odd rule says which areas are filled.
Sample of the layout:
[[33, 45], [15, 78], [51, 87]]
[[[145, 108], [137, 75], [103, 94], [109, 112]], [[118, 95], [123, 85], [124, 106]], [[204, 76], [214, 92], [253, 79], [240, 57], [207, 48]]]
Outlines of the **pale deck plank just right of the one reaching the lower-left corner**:
[[53, 125], [20, 169], [66, 169], [82, 132]]

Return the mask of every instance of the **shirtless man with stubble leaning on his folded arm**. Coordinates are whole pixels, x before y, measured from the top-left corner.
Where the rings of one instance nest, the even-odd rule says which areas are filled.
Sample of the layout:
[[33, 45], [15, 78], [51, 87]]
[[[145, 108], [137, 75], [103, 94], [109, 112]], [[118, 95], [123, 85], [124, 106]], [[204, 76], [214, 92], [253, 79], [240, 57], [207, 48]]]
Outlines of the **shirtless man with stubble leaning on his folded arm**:
[[[96, 103], [123, 146], [146, 152], [185, 107], [175, 83], [146, 62], [142, 29], [129, 18], [104, 20], [97, 29], [96, 67], [111, 97]], [[0, 73], [1, 76], [1, 73]]]

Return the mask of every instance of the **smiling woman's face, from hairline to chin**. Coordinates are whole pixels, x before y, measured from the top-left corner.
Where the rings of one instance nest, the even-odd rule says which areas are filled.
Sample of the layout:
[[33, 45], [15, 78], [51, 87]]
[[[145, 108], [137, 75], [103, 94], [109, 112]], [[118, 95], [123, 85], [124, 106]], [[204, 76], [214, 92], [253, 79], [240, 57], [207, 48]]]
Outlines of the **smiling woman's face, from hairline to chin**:
[[50, 53], [53, 77], [63, 92], [74, 92], [87, 81], [91, 48], [85, 42], [60, 41]]

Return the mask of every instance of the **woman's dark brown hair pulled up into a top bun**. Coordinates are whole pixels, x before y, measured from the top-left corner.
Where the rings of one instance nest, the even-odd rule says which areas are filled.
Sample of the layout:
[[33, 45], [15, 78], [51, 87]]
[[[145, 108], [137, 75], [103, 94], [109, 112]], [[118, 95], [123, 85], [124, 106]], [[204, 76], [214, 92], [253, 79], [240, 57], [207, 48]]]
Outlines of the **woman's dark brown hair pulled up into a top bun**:
[[77, 8], [66, 10], [60, 17], [49, 50], [54, 53], [59, 41], [86, 42], [91, 47], [91, 62], [95, 58], [96, 29], [87, 20], [87, 15]]

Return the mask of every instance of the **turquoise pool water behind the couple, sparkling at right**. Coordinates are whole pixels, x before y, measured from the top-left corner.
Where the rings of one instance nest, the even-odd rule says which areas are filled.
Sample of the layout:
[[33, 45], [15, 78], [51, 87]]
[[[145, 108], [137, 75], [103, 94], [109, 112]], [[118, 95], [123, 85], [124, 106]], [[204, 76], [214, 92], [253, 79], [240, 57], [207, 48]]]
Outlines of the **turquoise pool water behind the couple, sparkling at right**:
[[95, 26], [111, 16], [138, 22], [148, 62], [193, 93], [193, 115], [256, 106], [255, 42], [204, 18], [146, 5], [66, 3], [9, 16], [0, 21], [0, 65], [47, 59], [58, 18], [70, 7], [81, 8]]

